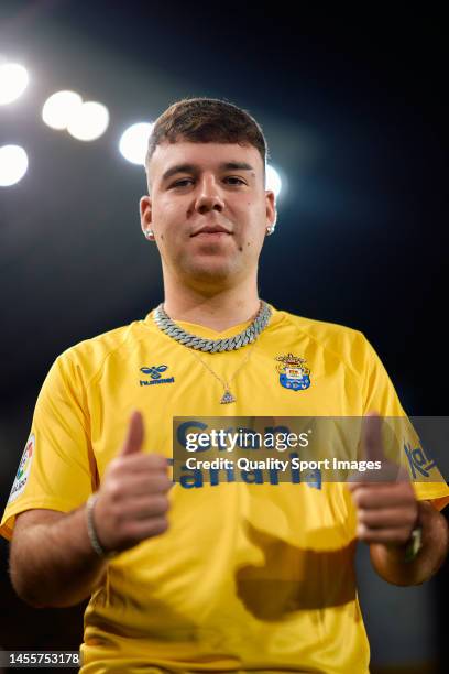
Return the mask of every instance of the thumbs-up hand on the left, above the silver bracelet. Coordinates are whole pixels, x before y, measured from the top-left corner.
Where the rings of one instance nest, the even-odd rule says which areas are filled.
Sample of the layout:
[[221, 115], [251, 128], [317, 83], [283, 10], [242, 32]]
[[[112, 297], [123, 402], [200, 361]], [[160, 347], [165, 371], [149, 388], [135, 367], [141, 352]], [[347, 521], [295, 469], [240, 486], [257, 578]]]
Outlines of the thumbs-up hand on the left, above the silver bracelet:
[[142, 452], [140, 412], [133, 412], [124, 444], [109, 464], [94, 509], [94, 524], [105, 551], [123, 551], [168, 529], [167, 492], [173, 482], [165, 457]]

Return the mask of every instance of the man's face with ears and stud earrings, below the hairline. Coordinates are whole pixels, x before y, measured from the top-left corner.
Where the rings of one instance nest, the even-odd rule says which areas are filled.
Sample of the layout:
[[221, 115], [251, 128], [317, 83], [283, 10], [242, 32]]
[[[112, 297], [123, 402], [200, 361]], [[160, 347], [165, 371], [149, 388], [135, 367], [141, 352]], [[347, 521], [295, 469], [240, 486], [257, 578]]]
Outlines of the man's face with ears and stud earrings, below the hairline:
[[252, 145], [180, 141], [157, 145], [142, 229], [153, 230], [164, 279], [230, 286], [256, 275], [266, 227], [275, 221], [262, 157]]

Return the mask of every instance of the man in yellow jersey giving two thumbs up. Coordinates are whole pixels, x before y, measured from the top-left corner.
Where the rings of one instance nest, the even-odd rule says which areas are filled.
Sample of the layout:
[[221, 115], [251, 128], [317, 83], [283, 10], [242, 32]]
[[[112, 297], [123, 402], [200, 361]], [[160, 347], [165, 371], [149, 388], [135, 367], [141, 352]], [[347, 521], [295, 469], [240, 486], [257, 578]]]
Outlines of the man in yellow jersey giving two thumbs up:
[[[265, 154], [230, 104], [188, 99], [158, 118], [141, 224], [164, 304], [65, 351], [39, 396], [1, 532], [25, 601], [91, 595], [83, 673], [366, 673], [357, 536], [394, 584], [443, 561], [436, 468], [414, 486], [169, 479], [174, 417], [404, 416], [360, 333], [260, 301], [276, 219]], [[364, 450], [381, 445], [369, 416]]]

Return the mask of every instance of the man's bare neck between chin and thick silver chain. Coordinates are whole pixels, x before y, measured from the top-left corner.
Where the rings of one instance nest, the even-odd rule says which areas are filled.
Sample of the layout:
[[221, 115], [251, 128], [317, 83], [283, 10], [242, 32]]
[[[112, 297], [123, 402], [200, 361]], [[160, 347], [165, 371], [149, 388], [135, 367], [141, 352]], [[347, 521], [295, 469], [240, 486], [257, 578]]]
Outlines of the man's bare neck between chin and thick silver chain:
[[172, 320], [196, 323], [221, 333], [252, 320], [259, 312], [260, 300], [255, 283], [206, 294], [187, 285], [171, 286], [165, 282], [164, 308]]

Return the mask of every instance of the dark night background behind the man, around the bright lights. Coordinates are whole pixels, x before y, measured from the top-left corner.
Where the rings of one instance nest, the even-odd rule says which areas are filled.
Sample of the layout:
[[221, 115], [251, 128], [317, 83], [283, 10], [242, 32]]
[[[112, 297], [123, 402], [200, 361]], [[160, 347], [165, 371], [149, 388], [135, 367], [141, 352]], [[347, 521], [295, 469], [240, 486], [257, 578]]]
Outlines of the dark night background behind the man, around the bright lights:
[[[0, 145], [21, 144], [30, 160], [19, 184], [0, 188], [2, 502], [56, 356], [162, 300], [138, 217], [144, 172], [118, 142], [185, 96], [249, 109], [287, 178], [261, 296], [362, 330], [408, 414], [447, 414], [448, 41], [438, 8], [332, 15], [286, 2], [2, 0], [0, 55], [31, 73], [23, 97], [0, 108]], [[42, 106], [63, 88], [108, 106], [103, 137], [83, 143], [45, 127]], [[6, 543], [0, 552], [1, 646], [77, 648], [80, 611], [21, 605]], [[442, 672], [445, 569], [403, 590], [380, 581], [363, 551], [359, 566], [373, 672]]]

